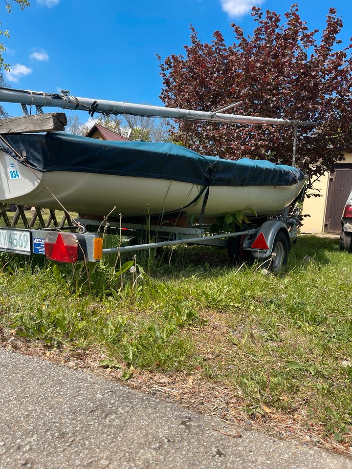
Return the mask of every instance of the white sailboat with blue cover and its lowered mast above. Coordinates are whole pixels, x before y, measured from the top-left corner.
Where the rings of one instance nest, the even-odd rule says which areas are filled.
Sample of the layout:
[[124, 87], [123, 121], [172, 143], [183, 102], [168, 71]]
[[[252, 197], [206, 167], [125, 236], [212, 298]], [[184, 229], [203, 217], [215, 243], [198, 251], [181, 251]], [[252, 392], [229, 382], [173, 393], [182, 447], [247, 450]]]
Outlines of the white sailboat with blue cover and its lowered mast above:
[[[252, 116], [132, 105], [0, 88], [0, 101], [93, 112], [152, 115], [252, 125], [314, 125]], [[63, 133], [9, 134], [0, 142], [0, 201], [89, 213], [136, 217], [186, 213], [214, 219], [243, 211], [247, 217], [282, 212], [307, 176], [269, 161], [224, 160], [171, 143], [109, 142]]]

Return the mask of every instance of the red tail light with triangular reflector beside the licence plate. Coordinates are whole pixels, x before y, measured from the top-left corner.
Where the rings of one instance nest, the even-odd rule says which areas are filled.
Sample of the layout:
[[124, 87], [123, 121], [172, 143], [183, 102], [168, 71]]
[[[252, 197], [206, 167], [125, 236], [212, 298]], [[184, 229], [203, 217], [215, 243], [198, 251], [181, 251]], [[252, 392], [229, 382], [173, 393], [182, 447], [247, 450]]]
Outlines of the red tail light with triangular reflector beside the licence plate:
[[73, 264], [78, 260], [80, 247], [73, 233], [52, 232], [45, 236], [44, 249], [47, 259]]

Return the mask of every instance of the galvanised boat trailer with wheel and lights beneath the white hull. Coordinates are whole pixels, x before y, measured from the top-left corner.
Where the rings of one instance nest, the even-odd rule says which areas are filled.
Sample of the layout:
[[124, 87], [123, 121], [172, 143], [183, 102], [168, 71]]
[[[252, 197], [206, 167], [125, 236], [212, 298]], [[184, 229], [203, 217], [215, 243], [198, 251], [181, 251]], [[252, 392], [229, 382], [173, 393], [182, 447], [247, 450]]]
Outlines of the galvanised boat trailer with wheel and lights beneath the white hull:
[[[298, 207], [299, 204], [296, 204], [296, 210], [299, 210]], [[0, 228], [0, 251], [26, 256], [42, 255], [49, 260], [75, 263], [80, 260], [98, 262], [107, 255], [176, 245], [203, 245], [227, 248], [232, 262], [253, 260], [276, 272], [285, 263], [291, 243], [297, 238], [297, 216], [288, 218], [287, 209], [281, 217], [265, 220], [260, 226], [249, 223], [239, 227], [239, 231], [218, 234], [211, 234], [210, 225], [186, 228], [153, 226], [123, 223], [122, 220], [73, 219], [69, 213], [64, 213], [58, 222], [52, 210], [44, 222], [42, 210], [33, 208], [31, 220], [28, 221], [23, 206], [16, 206], [11, 220], [8, 207], [0, 204], [0, 217], [5, 224]], [[19, 223], [23, 228], [18, 228]], [[103, 246], [106, 233], [117, 235], [119, 242], [116, 246]]]

